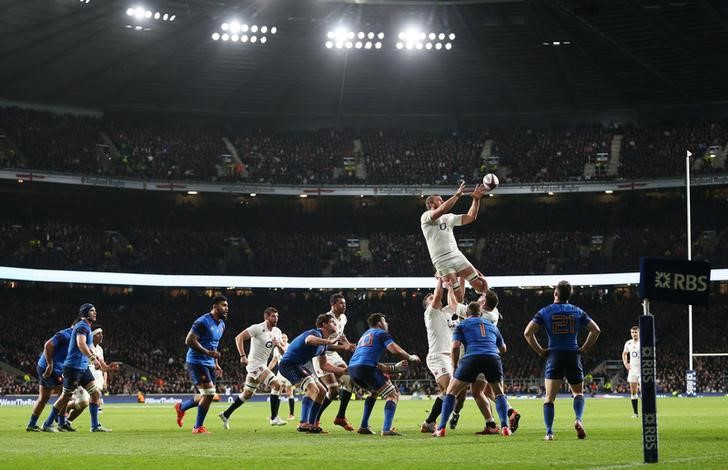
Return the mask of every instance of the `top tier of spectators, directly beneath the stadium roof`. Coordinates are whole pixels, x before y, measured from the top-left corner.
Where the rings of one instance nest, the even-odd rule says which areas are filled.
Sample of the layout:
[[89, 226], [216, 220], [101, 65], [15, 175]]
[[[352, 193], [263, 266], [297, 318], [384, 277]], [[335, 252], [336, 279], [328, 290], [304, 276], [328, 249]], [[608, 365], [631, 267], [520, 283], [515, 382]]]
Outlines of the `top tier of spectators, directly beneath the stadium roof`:
[[[0, 108], [0, 131], [2, 166], [296, 185], [451, 185], [489, 171], [517, 183], [675, 177], [684, 172], [685, 149], [701, 159], [721, 154], [728, 144], [726, 121], [441, 132], [273, 131], [19, 108]], [[616, 175], [607, 172], [615, 135], [622, 136]], [[587, 164], [593, 171], [585, 171]], [[695, 171], [725, 167], [722, 159], [705, 159]]]

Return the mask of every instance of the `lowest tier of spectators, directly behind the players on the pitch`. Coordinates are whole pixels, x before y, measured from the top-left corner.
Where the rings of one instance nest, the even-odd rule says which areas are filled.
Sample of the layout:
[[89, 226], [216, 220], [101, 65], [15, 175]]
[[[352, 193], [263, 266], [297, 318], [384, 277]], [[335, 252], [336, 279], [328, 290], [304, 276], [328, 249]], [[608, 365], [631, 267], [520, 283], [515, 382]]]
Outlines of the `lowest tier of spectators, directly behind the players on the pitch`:
[[[105, 356], [120, 361], [122, 370], [111, 376], [109, 392], [118, 394], [182, 393], [194, 390], [184, 369], [184, 338], [197, 316], [209, 310], [211, 292], [187, 290], [135, 289], [123, 294], [104, 293], [102, 289], [42, 289], [18, 287], [0, 290], [0, 300], [9, 311], [24, 312], [32, 322], [14, 322], [0, 331], [0, 358], [22, 371], [23, 375], [0, 378], [4, 393], [32, 391], [35, 363], [43, 343], [52, 334], [70, 325], [78, 305], [95, 303], [98, 323], [104, 328]], [[238, 363], [235, 335], [247, 326], [262, 321], [263, 309], [275, 306], [280, 311], [279, 327], [291, 339], [310, 328], [320, 313], [328, 310], [331, 292], [295, 290], [229, 291], [230, 313], [220, 352], [225, 371], [219, 384], [239, 391], [245, 371]], [[347, 336], [355, 341], [367, 329], [366, 318], [373, 312], [387, 316], [390, 333], [406, 350], [426, 355], [427, 335], [423, 321], [422, 299], [425, 290], [348, 291]], [[551, 290], [499, 290], [503, 318], [499, 323], [508, 353], [504, 368], [509, 378], [509, 393], [539, 393], [543, 360], [531, 351], [522, 331], [534, 313], [553, 300]], [[714, 293], [710, 307], [695, 307], [696, 351], [723, 351], [722, 318], [728, 309], [728, 297]], [[602, 335], [589, 354], [583, 357], [586, 371], [605, 360], [621, 360], [629, 329], [637, 323], [641, 306], [636, 288], [577, 289], [573, 303], [584, 308], [602, 329]], [[658, 348], [658, 390], [684, 392], [688, 368], [687, 315], [684, 308], [670, 305], [653, 307], [656, 314]], [[540, 340], [545, 342], [543, 332]], [[394, 360], [385, 357], [385, 360]], [[696, 360], [698, 387], [701, 392], [726, 391], [725, 358]], [[622, 371], [618, 376], [600, 377], [610, 383], [612, 391], [624, 389]], [[510, 379], [517, 379], [511, 381]], [[414, 364], [400, 379], [410, 391], [426, 392], [433, 384], [424, 364]], [[413, 382], [417, 381], [417, 385]], [[429, 388], [428, 388], [429, 387]], [[605, 390], [602, 388], [601, 390]]]

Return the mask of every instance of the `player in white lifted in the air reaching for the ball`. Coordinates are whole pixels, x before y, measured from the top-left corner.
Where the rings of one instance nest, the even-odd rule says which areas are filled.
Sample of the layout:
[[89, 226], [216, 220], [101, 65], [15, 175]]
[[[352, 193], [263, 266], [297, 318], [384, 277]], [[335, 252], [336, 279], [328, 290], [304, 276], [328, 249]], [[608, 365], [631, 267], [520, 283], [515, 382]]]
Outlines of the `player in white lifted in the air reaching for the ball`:
[[462, 197], [465, 183], [461, 183], [457, 192], [443, 201], [438, 194], [428, 196], [425, 200], [427, 211], [420, 217], [422, 233], [427, 241], [427, 250], [435, 268], [435, 273], [443, 281], [452, 285], [457, 295], [458, 302], [463, 301], [464, 287], [460, 284], [460, 277], [465, 278], [478, 293], [488, 289], [488, 282], [480, 272], [468, 261], [458, 248], [453, 229], [460, 225], [468, 225], [475, 221], [480, 210], [480, 200], [488, 192], [488, 189], [479, 184], [470, 194], [473, 199], [467, 214], [451, 214], [450, 210]]

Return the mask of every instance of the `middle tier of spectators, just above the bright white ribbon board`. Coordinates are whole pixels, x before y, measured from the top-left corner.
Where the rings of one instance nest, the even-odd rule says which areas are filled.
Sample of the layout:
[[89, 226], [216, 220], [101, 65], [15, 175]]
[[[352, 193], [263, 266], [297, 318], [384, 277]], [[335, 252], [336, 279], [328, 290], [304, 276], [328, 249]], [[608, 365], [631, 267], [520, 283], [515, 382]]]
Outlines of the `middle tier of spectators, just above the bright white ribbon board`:
[[[695, 231], [694, 239], [703, 228]], [[725, 238], [725, 234], [723, 238]], [[684, 257], [682, 228], [614, 228], [592, 232], [494, 231], [473, 234], [462, 251], [487, 275], [624, 272], [641, 256]], [[349, 240], [356, 243], [349, 245]], [[725, 250], [694, 251], [713, 267]], [[357, 245], [358, 244], [358, 245]], [[366, 248], [364, 248], [366, 246]], [[695, 242], [697, 247], [697, 241]], [[120, 230], [51, 220], [0, 223], [0, 258], [8, 266], [159, 274], [266, 276], [430, 276], [420, 233], [290, 233], [141, 225]]]

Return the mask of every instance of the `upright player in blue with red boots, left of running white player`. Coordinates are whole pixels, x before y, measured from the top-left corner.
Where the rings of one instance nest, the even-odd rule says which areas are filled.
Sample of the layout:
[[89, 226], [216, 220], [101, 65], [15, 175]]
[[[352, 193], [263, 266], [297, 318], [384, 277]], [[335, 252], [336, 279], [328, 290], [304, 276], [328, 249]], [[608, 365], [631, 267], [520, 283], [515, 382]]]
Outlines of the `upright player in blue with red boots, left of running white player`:
[[220, 353], [217, 350], [220, 338], [225, 332], [225, 320], [228, 316], [228, 301], [225, 296], [212, 298], [212, 308], [200, 316], [192, 324], [187, 337], [187, 372], [192, 383], [197, 385], [200, 393], [174, 405], [177, 412], [177, 426], [182, 427], [185, 412], [197, 407], [197, 420], [192, 434], [210, 434], [205, 428], [205, 416], [215, 397], [215, 378], [222, 377], [222, 368], [218, 363]]

